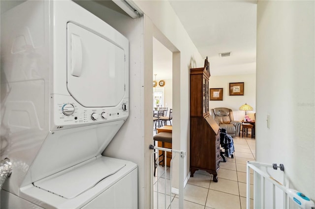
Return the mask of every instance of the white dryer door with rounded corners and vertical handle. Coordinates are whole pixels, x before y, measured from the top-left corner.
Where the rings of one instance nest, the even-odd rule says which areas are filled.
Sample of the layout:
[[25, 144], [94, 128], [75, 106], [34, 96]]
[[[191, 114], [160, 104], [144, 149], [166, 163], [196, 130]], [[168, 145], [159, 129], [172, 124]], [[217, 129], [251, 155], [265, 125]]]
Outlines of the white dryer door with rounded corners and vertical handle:
[[67, 88], [85, 107], [118, 105], [125, 96], [125, 51], [101, 34], [67, 23]]

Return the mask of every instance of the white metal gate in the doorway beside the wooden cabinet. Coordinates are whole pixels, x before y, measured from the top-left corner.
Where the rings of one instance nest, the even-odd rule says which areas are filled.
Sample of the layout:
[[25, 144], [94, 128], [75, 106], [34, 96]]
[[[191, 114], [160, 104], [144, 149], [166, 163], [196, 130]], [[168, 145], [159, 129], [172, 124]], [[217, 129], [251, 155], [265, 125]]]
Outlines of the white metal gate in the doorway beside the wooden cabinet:
[[[178, 196], [179, 196], [179, 204], [178, 204], [178, 208], [179, 209], [184, 209], [184, 157], [186, 155], [186, 152], [184, 151], [178, 151], [178, 150], [173, 150], [173, 149], [167, 149], [167, 148], [162, 148], [162, 147], [156, 147], [153, 145], [149, 146], [149, 149], [154, 150], [154, 152], [152, 153], [151, 156], [151, 209], [154, 208], [159, 208], [158, 207], [158, 194], [159, 194], [159, 190], [158, 190], [158, 181], [162, 180], [162, 178], [158, 178], [157, 177], [157, 198], [156, 198], [156, 203], [157, 205], [154, 206], [154, 174], [155, 173], [159, 173], [159, 154], [158, 151], [162, 151], [163, 152], [163, 156], [164, 156], [164, 175], [165, 175], [165, 179], [164, 179], [164, 191], [162, 191], [161, 193], [164, 194], [164, 209], [172, 209], [172, 180], [173, 180], [173, 160], [176, 159], [176, 156], [179, 156], [179, 175], [178, 175]], [[170, 161], [170, 183], [169, 183], [169, 188], [167, 187], [166, 184], [166, 170], [167, 170], [167, 166], [166, 166], [166, 152], [171, 152], [172, 153], [172, 159]], [[157, 163], [157, 166], [156, 166]], [[155, 169], [156, 172], [155, 172]], [[158, 175], [157, 175], [158, 176]], [[175, 191], [173, 191], [174, 193]], [[167, 195], [167, 193], [169, 193], [169, 195]], [[177, 191], [176, 191], [177, 193]], [[168, 197], [169, 196], [169, 197]], [[167, 199], [169, 198], [169, 204], [167, 204]]]

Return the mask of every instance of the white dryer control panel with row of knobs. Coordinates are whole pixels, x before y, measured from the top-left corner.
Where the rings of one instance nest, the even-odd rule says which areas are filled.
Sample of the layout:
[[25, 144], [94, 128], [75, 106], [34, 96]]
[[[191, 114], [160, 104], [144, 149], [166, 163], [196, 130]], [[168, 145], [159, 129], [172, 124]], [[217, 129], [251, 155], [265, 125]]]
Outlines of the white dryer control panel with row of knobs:
[[126, 120], [129, 115], [128, 98], [112, 107], [84, 107], [65, 95], [52, 95], [51, 99], [54, 106], [51, 131]]

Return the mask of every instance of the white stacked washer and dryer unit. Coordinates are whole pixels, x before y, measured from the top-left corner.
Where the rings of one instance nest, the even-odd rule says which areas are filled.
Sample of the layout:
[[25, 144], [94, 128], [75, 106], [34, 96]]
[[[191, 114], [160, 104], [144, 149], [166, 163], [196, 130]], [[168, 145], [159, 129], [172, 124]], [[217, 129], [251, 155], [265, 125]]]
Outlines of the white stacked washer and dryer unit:
[[137, 165], [101, 155], [129, 113], [128, 44], [70, 0], [1, 14], [1, 209], [137, 208]]

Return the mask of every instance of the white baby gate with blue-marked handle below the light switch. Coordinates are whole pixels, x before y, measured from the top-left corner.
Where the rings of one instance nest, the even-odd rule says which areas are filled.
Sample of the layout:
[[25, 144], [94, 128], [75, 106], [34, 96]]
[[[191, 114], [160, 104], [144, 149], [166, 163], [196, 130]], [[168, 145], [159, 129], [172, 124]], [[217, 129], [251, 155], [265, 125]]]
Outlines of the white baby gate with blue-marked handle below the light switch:
[[[253, 208], [265, 209], [271, 208], [266, 205], [266, 201], [272, 199], [272, 208], [289, 209], [292, 208], [293, 205], [300, 209], [315, 209], [315, 204], [310, 198], [305, 196], [303, 193], [296, 191], [294, 189], [290, 189], [285, 186], [285, 173], [283, 180], [284, 184], [275, 180], [268, 172], [268, 168], [273, 168], [277, 170], [280, 168], [281, 171], [284, 171], [284, 165], [280, 164], [267, 164], [260, 163], [255, 161], [247, 162], [247, 209], [250, 209], [250, 199], [251, 199], [251, 169], [253, 170]], [[263, 169], [263, 170], [262, 170]], [[268, 183], [268, 184], [267, 184]], [[270, 186], [271, 185], [271, 186]], [[270, 189], [271, 188], [271, 189]], [[277, 189], [277, 190], [276, 190]], [[271, 191], [270, 191], [271, 190]], [[266, 195], [269, 195], [266, 198]], [[280, 195], [280, 196], [279, 196]], [[283, 203], [279, 203], [277, 201], [283, 201]], [[276, 207], [276, 204], [278, 206]], [[290, 207], [292, 204], [292, 207]]]

